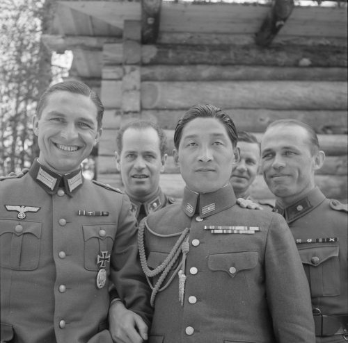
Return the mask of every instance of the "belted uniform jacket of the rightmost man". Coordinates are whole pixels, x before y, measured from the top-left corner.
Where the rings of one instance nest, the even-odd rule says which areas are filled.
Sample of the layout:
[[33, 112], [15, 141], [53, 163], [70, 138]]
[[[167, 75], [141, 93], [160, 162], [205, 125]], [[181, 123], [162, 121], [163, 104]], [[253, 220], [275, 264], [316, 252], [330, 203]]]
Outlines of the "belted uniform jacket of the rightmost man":
[[299, 249], [317, 342], [346, 342], [342, 334], [348, 333], [347, 205], [326, 199], [316, 187], [287, 208], [277, 202], [274, 211], [285, 217]]

